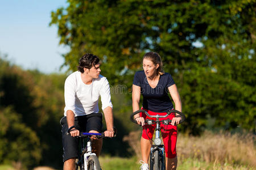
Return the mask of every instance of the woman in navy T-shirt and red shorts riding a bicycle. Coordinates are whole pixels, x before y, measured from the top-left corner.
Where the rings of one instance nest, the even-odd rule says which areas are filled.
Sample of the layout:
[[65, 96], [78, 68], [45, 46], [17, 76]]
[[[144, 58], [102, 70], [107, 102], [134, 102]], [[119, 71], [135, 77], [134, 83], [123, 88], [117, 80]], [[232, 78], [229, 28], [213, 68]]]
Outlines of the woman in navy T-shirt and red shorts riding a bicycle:
[[[166, 112], [173, 109], [170, 97], [175, 103], [175, 109], [181, 112], [181, 100], [179, 92], [177, 91], [176, 84], [172, 76], [163, 72], [163, 63], [158, 53], [148, 52], [143, 56], [143, 71], [138, 71], [134, 75], [133, 80], [133, 112], [138, 111], [139, 99], [143, 95], [142, 109], [146, 110], [152, 115], [166, 115]], [[141, 169], [148, 169], [148, 157], [150, 155], [150, 139], [154, 134], [155, 127], [153, 125], [144, 125], [144, 120], [149, 118], [144, 113], [138, 113], [134, 119], [139, 125], [143, 126], [141, 138], [141, 153], [142, 165]], [[167, 126], [165, 133], [162, 133], [164, 148], [166, 151], [166, 169], [176, 169], [177, 156], [176, 156], [176, 140], [177, 140], [177, 127], [175, 123], [179, 124], [181, 117], [171, 114], [167, 118], [172, 119], [171, 125]], [[152, 118], [149, 118], [152, 119]], [[161, 125], [161, 130], [163, 131]]]

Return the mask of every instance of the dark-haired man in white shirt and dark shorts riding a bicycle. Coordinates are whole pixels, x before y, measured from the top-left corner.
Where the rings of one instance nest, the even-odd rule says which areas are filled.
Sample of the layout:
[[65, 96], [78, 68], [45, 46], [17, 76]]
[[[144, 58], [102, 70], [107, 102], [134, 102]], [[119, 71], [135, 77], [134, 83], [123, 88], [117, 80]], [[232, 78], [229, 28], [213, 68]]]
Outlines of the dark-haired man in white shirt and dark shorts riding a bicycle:
[[[100, 75], [100, 59], [93, 54], [85, 54], [79, 61], [76, 72], [65, 80], [64, 117], [61, 118], [63, 136], [64, 170], [75, 169], [78, 156], [78, 140], [74, 138], [80, 131], [101, 133], [102, 113], [99, 113], [98, 100], [101, 96], [102, 111], [106, 121], [106, 137], [113, 137], [113, 112], [108, 80]], [[66, 135], [68, 128], [70, 134]], [[92, 138], [92, 152], [100, 155], [102, 139]]]

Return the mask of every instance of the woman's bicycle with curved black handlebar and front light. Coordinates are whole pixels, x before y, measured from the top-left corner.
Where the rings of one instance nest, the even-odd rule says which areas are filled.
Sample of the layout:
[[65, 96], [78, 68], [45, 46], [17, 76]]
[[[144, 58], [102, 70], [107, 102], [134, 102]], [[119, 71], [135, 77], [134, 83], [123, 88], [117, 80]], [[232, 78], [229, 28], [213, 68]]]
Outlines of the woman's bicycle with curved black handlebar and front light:
[[143, 109], [141, 109], [139, 111], [132, 113], [130, 116], [131, 121], [134, 122], [135, 124], [137, 124], [137, 121], [134, 120], [133, 116], [140, 112], [145, 113], [148, 117], [156, 118], [156, 120], [150, 120], [150, 119], [145, 120], [146, 125], [156, 124], [155, 139], [154, 139], [155, 145], [151, 145], [151, 148], [150, 148], [150, 170], [164, 170], [164, 169], [166, 169], [166, 163], [165, 163], [166, 156], [165, 156], [165, 151], [164, 151], [164, 145], [161, 145], [162, 140], [160, 138], [160, 124], [162, 123], [164, 125], [170, 125], [172, 120], [166, 119], [166, 120], [159, 121], [159, 118], [167, 117], [171, 113], [177, 113], [177, 114], [180, 114], [180, 116], [181, 116], [181, 121], [180, 121], [180, 124], [181, 124], [182, 122], [185, 121], [185, 115], [179, 111], [170, 110], [167, 112], [166, 115], [160, 116], [159, 114], [157, 114], [156, 116], [152, 116], [152, 115], [148, 114], [147, 111], [144, 111]]

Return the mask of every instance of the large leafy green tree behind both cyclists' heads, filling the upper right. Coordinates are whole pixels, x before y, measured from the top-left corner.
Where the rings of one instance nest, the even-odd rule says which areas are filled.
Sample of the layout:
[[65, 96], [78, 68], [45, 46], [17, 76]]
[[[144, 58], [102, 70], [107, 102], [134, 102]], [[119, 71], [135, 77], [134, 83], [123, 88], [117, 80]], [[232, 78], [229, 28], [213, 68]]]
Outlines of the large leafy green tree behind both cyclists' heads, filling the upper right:
[[255, 130], [255, 2], [69, 0], [50, 25], [71, 49], [65, 65], [94, 53], [110, 84], [130, 88], [143, 54], [159, 52], [188, 117], [181, 130]]

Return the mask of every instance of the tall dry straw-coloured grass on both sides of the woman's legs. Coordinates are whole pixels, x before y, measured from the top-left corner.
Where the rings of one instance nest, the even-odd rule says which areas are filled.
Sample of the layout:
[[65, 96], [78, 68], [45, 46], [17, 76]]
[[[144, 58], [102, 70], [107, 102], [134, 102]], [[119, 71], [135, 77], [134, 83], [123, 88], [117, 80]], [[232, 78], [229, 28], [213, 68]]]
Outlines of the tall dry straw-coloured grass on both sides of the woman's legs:
[[[140, 131], [132, 132], [128, 141], [138, 158], [141, 158], [139, 145]], [[253, 134], [212, 133], [205, 131], [200, 137], [179, 134], [177, 138], [179, 163], [183, 160], [200, 160], [214, 165], [245, 165], [256, 168], [256, 146]]]

